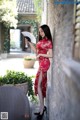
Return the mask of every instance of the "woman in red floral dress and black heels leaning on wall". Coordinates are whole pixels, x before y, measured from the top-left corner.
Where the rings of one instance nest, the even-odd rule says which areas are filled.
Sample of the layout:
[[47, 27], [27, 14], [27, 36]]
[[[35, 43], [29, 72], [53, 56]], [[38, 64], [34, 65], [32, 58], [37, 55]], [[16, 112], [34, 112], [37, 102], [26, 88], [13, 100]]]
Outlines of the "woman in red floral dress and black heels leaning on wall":
[[47, 25], [40, 26], [39, 41], [36, 44], [36, 48], [31, 42], [29, 42], [29, 45], [39, 60], [39, 69], [36, 75], [34, 89], [35, 95], [38, 94], [40, 100], [39, 112], [35, 113], [35, 115], [41, 118], [46, 110], [44, 98], [46, 97], [47, 70], [50, 67], [49, 58], [52, 58], [52, 37], [49, 27]]

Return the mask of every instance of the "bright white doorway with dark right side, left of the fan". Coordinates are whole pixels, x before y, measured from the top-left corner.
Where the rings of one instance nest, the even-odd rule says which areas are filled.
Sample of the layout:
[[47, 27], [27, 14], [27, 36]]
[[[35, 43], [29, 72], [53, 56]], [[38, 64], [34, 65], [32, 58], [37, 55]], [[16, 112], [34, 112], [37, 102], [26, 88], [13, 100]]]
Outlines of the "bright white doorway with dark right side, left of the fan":
[[10, 29], [10, 52], [31, 52], [30, 46], [26, 47], [23, 31], [31, 31], [31, 26], [19, 25], [17, 29]]

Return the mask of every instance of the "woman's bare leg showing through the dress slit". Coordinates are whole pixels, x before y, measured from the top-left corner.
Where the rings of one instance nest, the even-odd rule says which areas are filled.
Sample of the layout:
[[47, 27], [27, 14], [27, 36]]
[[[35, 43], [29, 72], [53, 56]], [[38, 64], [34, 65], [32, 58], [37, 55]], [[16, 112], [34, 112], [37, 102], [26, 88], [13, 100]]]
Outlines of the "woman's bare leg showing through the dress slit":
[[44, 97], [42, 95], [41, 83], [42, 83], [42, 71], [40, 72], [39, 81], [38, 81], [38, 96], [39, 96], [39, 101], [40, 101], [40, 114], [43, 113], [43, 109], [44, 109]]

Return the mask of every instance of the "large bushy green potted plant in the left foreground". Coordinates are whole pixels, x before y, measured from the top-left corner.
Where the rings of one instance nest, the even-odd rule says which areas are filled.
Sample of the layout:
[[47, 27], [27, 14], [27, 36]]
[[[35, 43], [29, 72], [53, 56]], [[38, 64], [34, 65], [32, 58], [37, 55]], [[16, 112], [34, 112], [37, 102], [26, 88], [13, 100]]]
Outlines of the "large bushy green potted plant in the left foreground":
[[28, 77], [23, 72], [8, 70], [4, 76], [0, 76], [0, 86], [2, 85], [14, 85], [34, 99], [32, 77]]

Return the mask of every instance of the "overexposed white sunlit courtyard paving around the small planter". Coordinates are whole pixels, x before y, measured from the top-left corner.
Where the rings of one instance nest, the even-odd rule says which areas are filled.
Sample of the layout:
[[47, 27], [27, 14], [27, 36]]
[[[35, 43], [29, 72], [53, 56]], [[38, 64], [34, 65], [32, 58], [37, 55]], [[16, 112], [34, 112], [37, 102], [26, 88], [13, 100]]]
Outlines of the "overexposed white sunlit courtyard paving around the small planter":
[[[36, 63], [35, 63], [36, 64]], [[32, 76], [37, 72], [37, 68], [24, 68], [23, 58], [8, 58], [0, 60], [0, 75], [4, 75], [6, 70], [15, 70], [25, 72], [27, 75]]]

